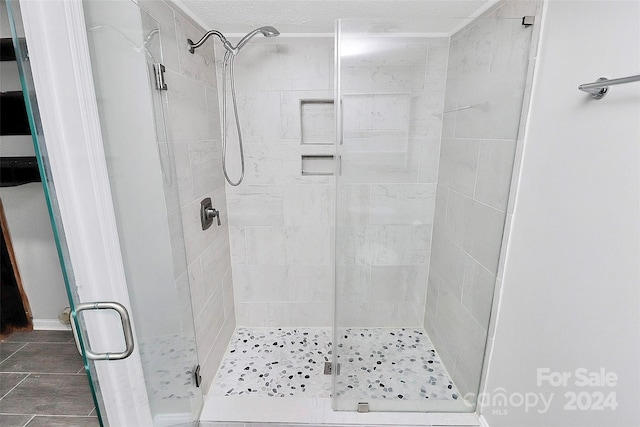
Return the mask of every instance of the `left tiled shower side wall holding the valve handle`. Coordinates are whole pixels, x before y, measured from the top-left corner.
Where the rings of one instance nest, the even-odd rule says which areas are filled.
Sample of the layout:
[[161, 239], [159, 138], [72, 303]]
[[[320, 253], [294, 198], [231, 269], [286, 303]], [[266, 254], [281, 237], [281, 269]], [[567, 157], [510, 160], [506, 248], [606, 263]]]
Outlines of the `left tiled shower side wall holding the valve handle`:
[[[160, 24], [166, 67], [165, 116], [175, 176], [165, 177], [176, 286], [181, 304], [191, 304], [203, 389], [213, 381], [235, 329], [229, 229], [224, 177], [220, 170], [221, 139], [212, 49], [194, 55], [186, 40], [198, 40], [204, 29], [170, 3], [143, 0], [138, 4]], [[206, 231], [200, 225], [200, 201], [210, 197], [221, 213], [222, 226]], [[191, 312], [184, 313], [191, 316]]]

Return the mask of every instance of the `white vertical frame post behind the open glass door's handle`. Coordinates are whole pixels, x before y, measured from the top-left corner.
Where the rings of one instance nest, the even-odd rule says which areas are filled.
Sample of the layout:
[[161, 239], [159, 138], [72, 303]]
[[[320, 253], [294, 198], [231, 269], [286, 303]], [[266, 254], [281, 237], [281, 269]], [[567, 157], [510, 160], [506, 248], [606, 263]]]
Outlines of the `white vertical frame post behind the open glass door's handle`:
[[[20, 0], [51, 174], [76, 281], [131, 307], [93, 87], [82, 2]], [[104, 324], [87, 325], [100, 335]], [[93, 330], [92, 330], [93, 329]], [[152, 425], [138, 348], [96, 365], [110, 425]]]

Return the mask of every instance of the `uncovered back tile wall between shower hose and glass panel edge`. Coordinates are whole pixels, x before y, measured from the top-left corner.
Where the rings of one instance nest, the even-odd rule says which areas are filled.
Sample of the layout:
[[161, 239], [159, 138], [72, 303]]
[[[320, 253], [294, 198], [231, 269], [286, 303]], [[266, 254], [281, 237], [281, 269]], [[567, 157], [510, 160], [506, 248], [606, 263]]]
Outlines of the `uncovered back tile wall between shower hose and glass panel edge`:
[[[236, 40], [233, 40], [235, 43]], [[223, 50], [216, 43], [222, 87]], [[333, 40], [254, 38], [235, 59], [246, 174], [227, 185], [237, 322], [330, 326], [334, 177], [301, 174], [301, 156], [332, 154]], [[231, 98], [228, 98], [231, 105]], [[304, 105], [304, 109], [302, 108]], [[305, 143], [301, 112], [305, 116]], [[232, 179], [237, 133], [227, 115]]]

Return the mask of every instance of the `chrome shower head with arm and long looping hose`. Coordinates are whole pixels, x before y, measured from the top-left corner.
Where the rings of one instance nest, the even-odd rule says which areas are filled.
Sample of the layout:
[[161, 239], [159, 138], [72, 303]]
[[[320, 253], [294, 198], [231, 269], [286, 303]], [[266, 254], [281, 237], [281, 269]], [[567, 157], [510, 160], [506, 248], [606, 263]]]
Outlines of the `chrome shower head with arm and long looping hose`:
[[[276, 37], [280, 35], [280, 32], [276, 30], [274, 27], [265, 26], [256, 28], [251, 31], [249, 34], [244, 36], [237, 45], [233, 46], [227, 38], [217, 30], [207, 31], [204, 36], [197, 42], [194, 43], [191, 39], [187, 39], [187, 45], [189, 46], [189, 52], [194, 53], [197, 48], [202, 46], [207, 39], [213, 35], [218, 36], [222, 45], [227, 49], [227, 52], [224, 55], [224, 67], [223, 67], [223, 75], [222, 75], [222, 171], [224, 172], [224, 177], [227, 182], [232, 186], [239, 185], [244, 179], [244, 149], [242, 147], [242, 131], [240, 130], [240, 121], [238, 120], [238, 105], [236, 102], [236, 87], [235, 87], [235, 79], [233, 77], [233, 60], [240, 52], [240, 49], [249, 42], [256, 34], [261, 33], [265, 37]], [[227, 173], [227, 69], [229, 70], [229, 80], [231, 82], [231, 97], [233, 100], [233, 112], [236, 119], [236, 129], [238, 130], [238, 145], [240, 147], [240, 164], [242, 166], [240, 179], [238, 181], [232, 181], [229, 178], [229, 174]]]

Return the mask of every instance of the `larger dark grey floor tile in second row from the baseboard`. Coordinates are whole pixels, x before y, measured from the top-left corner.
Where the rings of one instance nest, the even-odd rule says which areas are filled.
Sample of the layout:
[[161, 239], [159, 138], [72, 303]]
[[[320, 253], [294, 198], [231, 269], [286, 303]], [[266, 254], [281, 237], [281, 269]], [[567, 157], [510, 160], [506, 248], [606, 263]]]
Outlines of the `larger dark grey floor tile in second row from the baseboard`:
[[73, 344], [28, 343], [0, 363], [0, 372], [75, 374], [82, 366], [82, 356]]

